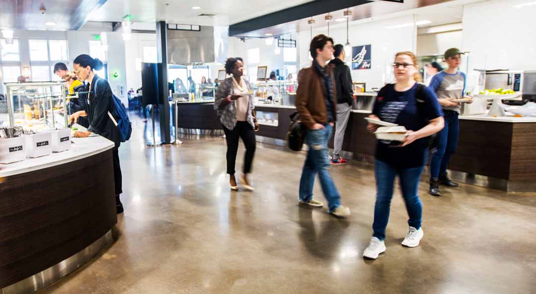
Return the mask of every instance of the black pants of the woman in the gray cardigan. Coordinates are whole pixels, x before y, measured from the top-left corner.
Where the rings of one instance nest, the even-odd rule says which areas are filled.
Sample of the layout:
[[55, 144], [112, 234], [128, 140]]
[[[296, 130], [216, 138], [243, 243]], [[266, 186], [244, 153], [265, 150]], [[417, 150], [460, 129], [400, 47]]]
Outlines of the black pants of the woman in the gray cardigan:
[[240, 138], [245, 145], [244, 174], [251, 172], [253, 157], [257, 142], [255, 141], [255, 130], [247, 121], [237, 121], [233, 130], [224, 126], [225, 140], [227, 141], [227, 173], [235, 174], [236, 152], [238, 152], [238, 142]]

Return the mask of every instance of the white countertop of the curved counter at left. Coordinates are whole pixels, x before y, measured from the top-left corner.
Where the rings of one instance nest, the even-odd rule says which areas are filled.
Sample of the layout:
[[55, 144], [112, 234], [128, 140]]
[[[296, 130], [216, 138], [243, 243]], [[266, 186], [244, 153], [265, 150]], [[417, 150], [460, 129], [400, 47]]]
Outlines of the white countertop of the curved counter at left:
[[[79, 130], [85, 130], [82, 126], [75, 126]], [[71, 161], [90, 157], [114, 148], [114, 142], [99, 135], [92, 135], [87, 138], [72, 137], [71, 140], [75, 143], [71, 144], [71, 149], [69, 150], [55, 152], [51, 155], [38, 158], [27, 158], [23, 161], [18, 161], [17, 163], [0, 164], [0, 178], [70, 163]]]

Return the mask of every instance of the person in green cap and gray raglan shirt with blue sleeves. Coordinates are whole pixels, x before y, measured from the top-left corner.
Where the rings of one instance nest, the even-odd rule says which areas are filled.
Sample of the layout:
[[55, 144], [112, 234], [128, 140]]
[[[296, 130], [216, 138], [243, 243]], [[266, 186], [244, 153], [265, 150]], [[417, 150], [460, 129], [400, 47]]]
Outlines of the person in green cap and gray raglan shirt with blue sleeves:
[[459, 135], [460, 104], [452, 100], [467, 98], [472, 103], [472, 98], [465, 96], [466, 76], [458, 71], [463, 53], [457, 48], [445, 51], [445, 62], [448, 68], [437, 73], [430, 81], [430, 88], [433, 90], [445, 113], [445, 127], [437, 134], [437, 152], [430, 160], [430, 194], [441, 196], [439, 185], [447, 187], [458, 187], [452, 182], [446, 169], [449, 166], [450, 157], [456, 151]]

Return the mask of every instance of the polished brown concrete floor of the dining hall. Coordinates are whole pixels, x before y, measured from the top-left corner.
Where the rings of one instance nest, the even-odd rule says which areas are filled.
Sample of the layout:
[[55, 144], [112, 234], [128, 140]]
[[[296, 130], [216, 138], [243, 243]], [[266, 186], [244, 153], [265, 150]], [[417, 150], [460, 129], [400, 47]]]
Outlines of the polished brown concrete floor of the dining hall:
[[[40, 293], [536, 292], [536, 194], [461, 185], [435, 198], [423, 177], [421, 245], [400, 245], [407, 214], [397, 192], [387, 251], [364, 260], [374, 215], [371, 167], [331, 168], [352, 210], [336, 219], [325, 207], [297, 204], [303, 153], [258, 144], [256, 191], [230, 191], [222, 138], [146, 148], [143, 129], [136, 120], [120, 148], [125, 213], [117, 241]], [[318, 184], [315, 193], [323, 199]]]

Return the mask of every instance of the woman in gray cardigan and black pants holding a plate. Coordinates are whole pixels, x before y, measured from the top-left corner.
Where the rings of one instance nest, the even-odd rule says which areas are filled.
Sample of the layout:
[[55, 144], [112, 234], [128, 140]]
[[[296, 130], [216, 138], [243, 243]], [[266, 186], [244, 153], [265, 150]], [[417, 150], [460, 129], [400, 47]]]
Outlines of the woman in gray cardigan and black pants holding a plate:
[[227, 173], [232, 190], [238, 190], [235, 178], [235, 161], [240, 138], [245, 145], [243, 176], [240, 181], [244, 188], [253, 191], [248, 174], [251, 172], [255, 156], [255, 130], [258, 129], [253, 105], [252, 91], [243, 78], [244, 63], [240, 57], [228, 58], [225, 71], [232, 76], [220, 83], [215, 95], [214, 109], [224, 127], [227, 141]]

